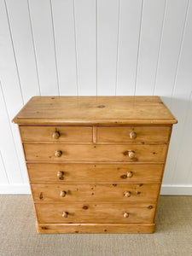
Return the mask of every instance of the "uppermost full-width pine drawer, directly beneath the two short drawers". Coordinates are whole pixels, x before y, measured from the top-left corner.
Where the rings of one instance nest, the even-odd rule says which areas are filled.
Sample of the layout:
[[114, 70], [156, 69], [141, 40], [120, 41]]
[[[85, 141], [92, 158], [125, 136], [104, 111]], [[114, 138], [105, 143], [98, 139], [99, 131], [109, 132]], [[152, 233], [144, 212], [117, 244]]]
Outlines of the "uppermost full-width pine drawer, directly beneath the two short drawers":
[[164, 162], [167, 145], [24, 144], [24, 148], [27, 161]]

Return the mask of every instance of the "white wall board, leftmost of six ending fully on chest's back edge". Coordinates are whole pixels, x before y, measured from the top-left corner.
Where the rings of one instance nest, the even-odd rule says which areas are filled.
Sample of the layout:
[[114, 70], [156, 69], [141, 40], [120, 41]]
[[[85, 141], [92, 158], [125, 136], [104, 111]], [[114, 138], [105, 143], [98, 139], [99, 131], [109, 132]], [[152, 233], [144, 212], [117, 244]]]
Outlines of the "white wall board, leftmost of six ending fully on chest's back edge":
[[43, 96], [57, 96], [59, 84], [51, 4], [49, 0], [29, 0], [29, 9], [37, 54], [40, 91]]

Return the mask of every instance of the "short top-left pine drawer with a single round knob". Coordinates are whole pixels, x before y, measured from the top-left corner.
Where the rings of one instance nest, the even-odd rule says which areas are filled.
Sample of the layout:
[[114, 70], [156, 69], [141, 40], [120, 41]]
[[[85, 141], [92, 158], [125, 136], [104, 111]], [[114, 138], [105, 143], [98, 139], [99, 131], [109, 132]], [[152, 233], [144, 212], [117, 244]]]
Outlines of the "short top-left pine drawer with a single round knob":
[[20, 126], [23, 142], [92, 143], [91, 126]]

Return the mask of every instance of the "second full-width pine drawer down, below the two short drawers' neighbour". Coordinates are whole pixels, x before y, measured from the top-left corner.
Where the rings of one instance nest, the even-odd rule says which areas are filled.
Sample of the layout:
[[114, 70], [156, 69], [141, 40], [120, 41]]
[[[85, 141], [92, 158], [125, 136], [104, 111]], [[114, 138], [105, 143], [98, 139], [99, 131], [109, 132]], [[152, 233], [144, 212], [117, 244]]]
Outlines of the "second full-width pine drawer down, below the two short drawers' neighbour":
[[27, 164], [31, 182], [160, 183], [163, 165]]

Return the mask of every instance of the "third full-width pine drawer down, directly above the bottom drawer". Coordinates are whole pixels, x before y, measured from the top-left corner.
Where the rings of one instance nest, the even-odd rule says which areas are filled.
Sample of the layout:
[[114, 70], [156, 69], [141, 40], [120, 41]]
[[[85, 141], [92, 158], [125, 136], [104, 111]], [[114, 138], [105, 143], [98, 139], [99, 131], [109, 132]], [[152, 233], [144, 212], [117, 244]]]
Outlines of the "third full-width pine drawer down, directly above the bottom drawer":
[[32, 183], [34, 201], [156, 202], [159, 184], [46, 184]]

